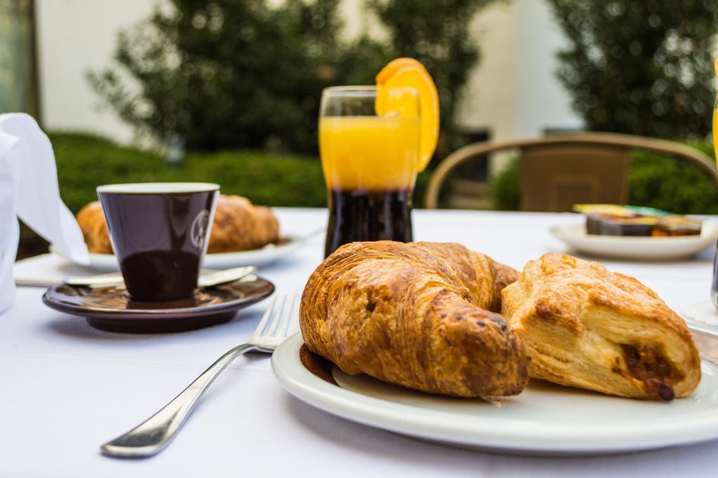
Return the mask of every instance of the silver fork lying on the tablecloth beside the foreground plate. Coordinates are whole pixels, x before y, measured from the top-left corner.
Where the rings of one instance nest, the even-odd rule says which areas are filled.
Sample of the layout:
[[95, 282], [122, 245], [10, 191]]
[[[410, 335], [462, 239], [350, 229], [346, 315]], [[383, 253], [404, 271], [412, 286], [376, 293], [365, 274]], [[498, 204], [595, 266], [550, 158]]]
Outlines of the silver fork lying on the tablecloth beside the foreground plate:
[[[259, 324], [249, 339], [249, 342], [238, 345], [228, 351], [214, 362], [205, 372], [190, 383], [190, 386], [167, 403], [162, 410], [132, 428], [126, 434], [118, 436], [101, 446], [101, 451], [107, 456], [118, 458], [144, 458], [162, 451], [165, 446], [177, 435], [182, 424], [192, 413], [197, 401], [205, 390], [213, 383], [220, 372], [244, 352], [271, 353], [286, 337], [289, 332], [289, 322], [293, 317], [297, 304], [297, 296], [292, 296], [289, 309], [286, 309], [286, 296], [279, 301], [276, 296], [264, 312]], [[279, 305], [278, 305], [279, 304]]]

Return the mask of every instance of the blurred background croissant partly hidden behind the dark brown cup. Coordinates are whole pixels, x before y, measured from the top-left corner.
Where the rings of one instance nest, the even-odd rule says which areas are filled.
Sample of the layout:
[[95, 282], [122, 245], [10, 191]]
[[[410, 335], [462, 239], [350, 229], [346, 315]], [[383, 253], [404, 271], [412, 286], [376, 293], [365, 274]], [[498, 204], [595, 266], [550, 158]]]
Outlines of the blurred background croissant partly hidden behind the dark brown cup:
[[[91, 253], [111, 254], [112, 246], [99, 202], [78, 212], [78, 224]], [[279, 221], [269, 207], [255, 206], [246, 197], [220, 195], [217, 199], [208, 253], [263, 248], [279, 240]]]

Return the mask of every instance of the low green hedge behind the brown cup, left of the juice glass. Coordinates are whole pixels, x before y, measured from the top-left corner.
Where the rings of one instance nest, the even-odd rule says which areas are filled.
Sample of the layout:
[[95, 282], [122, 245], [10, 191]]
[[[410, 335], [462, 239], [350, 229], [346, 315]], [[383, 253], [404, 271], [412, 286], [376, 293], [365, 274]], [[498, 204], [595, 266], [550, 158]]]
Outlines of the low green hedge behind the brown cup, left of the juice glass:
[[320, 162], [311, 156], [258, 151], [190, 153], [182, 166], [169, 167], [151, 151], [119, 146], [97, 136], [51, 133], [60, 195], [73, 212], [96, 199], [99, 184], [121, 182], [216, 182], [269, 206], [322, 207], [326, 192]]

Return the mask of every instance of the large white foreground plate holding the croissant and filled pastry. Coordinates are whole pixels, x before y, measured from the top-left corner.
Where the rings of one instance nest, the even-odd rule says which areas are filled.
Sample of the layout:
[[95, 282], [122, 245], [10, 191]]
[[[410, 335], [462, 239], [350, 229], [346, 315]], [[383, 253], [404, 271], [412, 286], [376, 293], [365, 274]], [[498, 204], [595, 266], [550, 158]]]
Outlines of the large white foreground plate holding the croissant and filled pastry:
[[[697, 333], [717, 340], [712, 333]], [[418, 439], [519, 454], [607, 454], [718, 438], [716, 362], [703, 362], [703, 378], [693, 395], [668, 403], [532, 380], [523, 393], [498, 407], [480, 399], [414, 392], [337, 367], [332, 376], [338, 385], [332, 384], [302, 364], [302, 345], [296, 334], [271, 357], [274, 373], [292, 395], [348, 420]]]

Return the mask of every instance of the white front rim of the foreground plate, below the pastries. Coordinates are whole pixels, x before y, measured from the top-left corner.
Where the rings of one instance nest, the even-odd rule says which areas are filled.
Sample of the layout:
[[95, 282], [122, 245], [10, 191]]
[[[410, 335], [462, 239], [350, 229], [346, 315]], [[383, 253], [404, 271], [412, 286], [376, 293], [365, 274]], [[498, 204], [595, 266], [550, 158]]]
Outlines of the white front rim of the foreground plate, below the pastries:
[[[581, 431], [582, 422], [567, 426], [509, 418], [511, 423], [521, 425], [521, 430], [516, 431], [516, 426], [506, 426], [507, 419], [495, 417], [477, 417], [483, 424], [480, 428], [477, 428], [477, 420], [457, 421], [449, 428], [437, 426], [441, 423], [437, 418], [455, 418], [455, 415], [436, 410], [417, 414], [414, 407], [347, 390], [312, 374], [299, 361], [299, 348], [303, 343], [301, 333], [294, 334], [282, 342], [271, 357], [272, 370], [289, 393], [327, 413], [420, 439], [498, 451], [607, 454], [718, 438], [718, 413], [711, 410], [700, 411], [668, 424], [642, 418], [630, 422], [632, 426], [610, 423], [592, 426], [587, 431]], [[292, 356], [294, 360], [287, 360], [286, 357]], [[714, 365], [707, 366], [718, 370]], [[639, 423], [640, 427], [636, 427], [635, 423]], [[567, 431], [571, 432], [569, 436]]]

